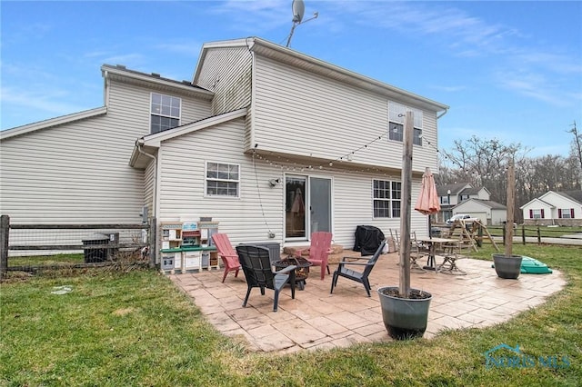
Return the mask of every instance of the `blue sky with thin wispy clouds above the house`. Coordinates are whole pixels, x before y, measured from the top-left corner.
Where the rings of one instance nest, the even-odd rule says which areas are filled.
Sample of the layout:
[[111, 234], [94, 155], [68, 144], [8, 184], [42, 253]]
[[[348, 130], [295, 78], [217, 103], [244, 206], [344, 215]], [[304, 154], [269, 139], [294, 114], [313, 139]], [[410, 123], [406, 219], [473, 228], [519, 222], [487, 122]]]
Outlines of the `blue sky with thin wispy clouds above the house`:
[[[0, 128], [104, 105], [101, 65], [192, 80], [204, 43], [286, 45], [291, 0], [0, 2]], [[289, 47], [450, 106], [472, 136], [567, 156], [582, 133], [582, 1], [310, 1]], [[317, 12], [317, 18], [308, 20]]]

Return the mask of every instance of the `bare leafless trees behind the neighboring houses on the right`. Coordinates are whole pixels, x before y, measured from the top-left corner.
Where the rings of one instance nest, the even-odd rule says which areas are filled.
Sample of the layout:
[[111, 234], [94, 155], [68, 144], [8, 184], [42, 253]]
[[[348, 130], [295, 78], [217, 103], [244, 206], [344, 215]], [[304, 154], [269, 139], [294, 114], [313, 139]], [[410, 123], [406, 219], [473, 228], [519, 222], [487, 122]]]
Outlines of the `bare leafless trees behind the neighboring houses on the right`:
[[547, 154], [529, 157], [531, 151], [519, 143], [504, 144], [496, 138], [473, 136], [456, 140], [453, 148], [439, 151], [438, 185], [469, 183], [485, 187], [491, 200], [507, 203], [507, 165], [515, 163], [516, 222], [523, 222], [522, 205], [547, 191], [564, 192], [582, 189], [582, 134], [576, 123], [570, 131], [574, 138], [567, 156]]

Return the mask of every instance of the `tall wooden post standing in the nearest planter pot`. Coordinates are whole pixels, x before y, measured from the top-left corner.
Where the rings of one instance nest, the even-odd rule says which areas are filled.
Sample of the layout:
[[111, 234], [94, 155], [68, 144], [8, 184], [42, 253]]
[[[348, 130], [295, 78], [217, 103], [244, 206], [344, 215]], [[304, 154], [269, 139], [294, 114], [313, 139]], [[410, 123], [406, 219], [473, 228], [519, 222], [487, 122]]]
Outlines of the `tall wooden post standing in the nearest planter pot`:
[[402, 199], [400, 202], [400, 281], [398, 293], [408, 298], [410, 293], [410, 206], [412, 191], [412, 143], [414, 114], [406, 112], [404, 120], [404, 149], [402, 153]]

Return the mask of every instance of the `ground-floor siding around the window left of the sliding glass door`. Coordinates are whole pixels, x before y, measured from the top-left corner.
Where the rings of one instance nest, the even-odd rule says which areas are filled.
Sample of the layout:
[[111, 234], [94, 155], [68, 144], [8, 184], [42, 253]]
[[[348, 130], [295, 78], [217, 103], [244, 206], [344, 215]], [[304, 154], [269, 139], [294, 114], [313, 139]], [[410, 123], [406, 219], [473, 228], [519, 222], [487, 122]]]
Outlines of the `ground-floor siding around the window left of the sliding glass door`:
[[[212, 216], [220, 222], [220, 232], [229, 233], [232, 243], [264, 241], [269, 229], [278, 237], [282, 235], [282, 186], [275, 191], [268, 185], [268, 179], [281, 172], [274, 174], [273, 168], [258, 163], [255, 169], [252, 156], [243, 154], [244, 133], [245, 119], [240, 118], [163, 143], [159, 155], [160, 222]], [[239, 198], [205, 196], [207, 161], [240, 165]]]

